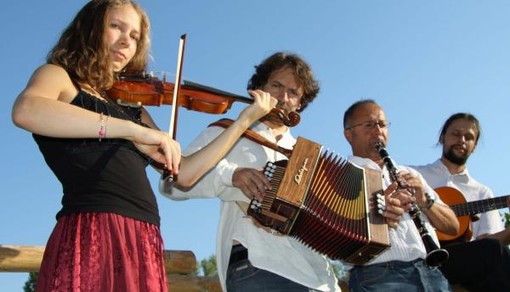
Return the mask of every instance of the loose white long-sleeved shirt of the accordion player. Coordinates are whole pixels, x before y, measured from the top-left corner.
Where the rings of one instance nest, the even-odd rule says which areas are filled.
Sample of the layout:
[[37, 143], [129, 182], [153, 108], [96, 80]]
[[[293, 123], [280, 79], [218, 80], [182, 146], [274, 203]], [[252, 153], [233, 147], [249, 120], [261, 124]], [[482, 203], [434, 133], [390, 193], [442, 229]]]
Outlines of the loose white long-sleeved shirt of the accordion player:
[[[270, 129], [263, 123], [252, 127], [269, 141], [277, 142]], [[224, 129], [209, 127], [183, 152], [189, 155], [216, 138]], [[291, 149], [296, 143], [289, 131], [282, 135], [278, 145]], [[167, 188], [163, 194], [174, 200], [218, 197], [222, 200], [220, 222], [216, 237], [216, 258], [219, 279], [225, 291], [226, 272], [234, 240], [248, 249], [251, 264], [291, 281], [320, 291], [340, 291], [330, 262], [325, 256], [311, 250], [289, 236], [273, 235], [256, 227], [235, 201], [249, 203], [239, 188], [232, 185], [232, 175], [237, 167], [261, 169], [268, 161], [287, 159], [267, 147], [241, 138], [234, 148], [215, 168], [209, 171], [193, 188], [182, 190]]]

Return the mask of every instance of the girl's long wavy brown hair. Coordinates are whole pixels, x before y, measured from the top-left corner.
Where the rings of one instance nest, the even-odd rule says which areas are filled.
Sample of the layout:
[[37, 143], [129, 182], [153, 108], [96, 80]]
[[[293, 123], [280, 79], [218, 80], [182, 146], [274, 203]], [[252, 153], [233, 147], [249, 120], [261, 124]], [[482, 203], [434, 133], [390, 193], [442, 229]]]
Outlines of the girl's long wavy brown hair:
[[145, 11], [132, 0], [91, 0], [63, 31], [46, 57], [48, 64], [63, 67], [72, 79], [99, 90], [109, 89], [115, 80], [103, 41], [106, 12], [112, 7], [131, 5], [140, 15], [140, 40], [127, 71], [145, 71], [150, 48], [150, 22]]

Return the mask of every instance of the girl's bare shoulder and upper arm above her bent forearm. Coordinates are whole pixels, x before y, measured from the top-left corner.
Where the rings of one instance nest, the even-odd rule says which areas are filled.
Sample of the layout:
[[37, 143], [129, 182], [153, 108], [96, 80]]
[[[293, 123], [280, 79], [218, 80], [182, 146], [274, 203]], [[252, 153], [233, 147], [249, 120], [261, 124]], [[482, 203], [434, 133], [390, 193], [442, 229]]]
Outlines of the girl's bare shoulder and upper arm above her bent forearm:
[[78, 90], [64, 68], [44, 64], [34, 71], [21, 95], [70, 102], [77, 92]]

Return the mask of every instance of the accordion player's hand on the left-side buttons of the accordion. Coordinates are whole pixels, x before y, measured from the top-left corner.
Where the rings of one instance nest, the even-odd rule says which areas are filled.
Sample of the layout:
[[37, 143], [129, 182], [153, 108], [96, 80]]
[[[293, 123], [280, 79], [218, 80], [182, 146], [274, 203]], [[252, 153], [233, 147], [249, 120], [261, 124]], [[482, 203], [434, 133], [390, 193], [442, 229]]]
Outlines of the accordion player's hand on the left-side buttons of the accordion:
[[239, 167], [232, 175], [232, 184], [241, 189], [248, 199], [262, 202], [266, 190], [271, 189], [271, 183], [264, 176], [262, 170]]

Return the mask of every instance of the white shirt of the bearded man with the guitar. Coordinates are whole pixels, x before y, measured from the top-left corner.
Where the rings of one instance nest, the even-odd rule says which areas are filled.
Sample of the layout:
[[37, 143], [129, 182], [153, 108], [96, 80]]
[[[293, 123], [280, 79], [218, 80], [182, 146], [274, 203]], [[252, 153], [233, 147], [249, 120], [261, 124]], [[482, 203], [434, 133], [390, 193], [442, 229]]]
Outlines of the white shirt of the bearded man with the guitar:
[[[471, 177], [467, 169], [459, 174], [451, 174], [440, 159], [432, 164], [413, 166], [413, 168], [418, 170], [433, 188], [454, 187], [464, 195], [467, 202], [494, 198], [492, 190]], [[499, 232], [505, 226], [498, 210], [493, 210], [481, 213], [480, 219], [473, 222], [472, 228], [471, 240], [474, 240], [484, 233]]]

